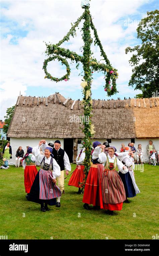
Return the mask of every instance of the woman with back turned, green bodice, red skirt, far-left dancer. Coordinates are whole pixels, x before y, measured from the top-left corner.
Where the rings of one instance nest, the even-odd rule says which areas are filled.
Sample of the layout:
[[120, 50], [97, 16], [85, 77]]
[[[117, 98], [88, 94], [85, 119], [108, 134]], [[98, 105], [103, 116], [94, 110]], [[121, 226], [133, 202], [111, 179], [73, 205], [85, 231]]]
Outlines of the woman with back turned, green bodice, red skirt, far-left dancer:
[[22, 161], [22, 166], [24, 168], [24, 186], [25, 186], [25, 192], [27, 193], [27, 195], [25, 196], [26, 198], [28, 198], [31, 187], [38, 173], [38, 170], [36, 168], [36, 163], [35, 163], [36, 158], [32, 154], [32, 149], [33, 148], [31, 147], [27, 149], [27, 153], [24, 155], [23, 161]]

